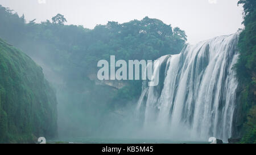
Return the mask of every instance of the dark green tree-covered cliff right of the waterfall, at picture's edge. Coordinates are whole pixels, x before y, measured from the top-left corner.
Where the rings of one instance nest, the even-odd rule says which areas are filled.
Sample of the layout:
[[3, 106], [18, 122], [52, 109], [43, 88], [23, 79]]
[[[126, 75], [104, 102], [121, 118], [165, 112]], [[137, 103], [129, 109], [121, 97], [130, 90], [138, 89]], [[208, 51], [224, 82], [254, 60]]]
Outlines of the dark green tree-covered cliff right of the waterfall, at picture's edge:
[[241, 0], [243, 5], [243, 24], [238, 48], [240, 58], [236, 64], [238, 81], [241, 87], [243, 114], [243, 136], [241, 143], [256, 143], [256, 1]]

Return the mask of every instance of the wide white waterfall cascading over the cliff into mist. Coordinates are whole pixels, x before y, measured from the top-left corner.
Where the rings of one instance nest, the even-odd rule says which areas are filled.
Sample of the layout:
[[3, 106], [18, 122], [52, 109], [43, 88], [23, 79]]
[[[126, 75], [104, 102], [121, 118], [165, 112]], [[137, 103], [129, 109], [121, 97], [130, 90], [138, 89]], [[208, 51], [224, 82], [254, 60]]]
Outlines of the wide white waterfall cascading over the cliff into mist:
[[154, 128], [180, 139], [207, 141], [214, 136], [228, 141], [238, 85], [233, 70], [237, 41], [237, 33], [220, 36], [159, 58], [159, 85], [143, 82], [138, 101], [144, 130]]

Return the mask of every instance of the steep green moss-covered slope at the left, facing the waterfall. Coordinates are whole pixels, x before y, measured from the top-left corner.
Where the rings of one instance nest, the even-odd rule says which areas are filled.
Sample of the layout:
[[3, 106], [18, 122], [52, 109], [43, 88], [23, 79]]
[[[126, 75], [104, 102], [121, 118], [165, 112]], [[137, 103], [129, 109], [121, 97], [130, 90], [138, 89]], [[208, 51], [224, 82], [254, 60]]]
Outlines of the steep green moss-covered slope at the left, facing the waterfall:
[[42, 68], [0, 39], [0, 143], [34, 143], [57, 135], [55, 91]]

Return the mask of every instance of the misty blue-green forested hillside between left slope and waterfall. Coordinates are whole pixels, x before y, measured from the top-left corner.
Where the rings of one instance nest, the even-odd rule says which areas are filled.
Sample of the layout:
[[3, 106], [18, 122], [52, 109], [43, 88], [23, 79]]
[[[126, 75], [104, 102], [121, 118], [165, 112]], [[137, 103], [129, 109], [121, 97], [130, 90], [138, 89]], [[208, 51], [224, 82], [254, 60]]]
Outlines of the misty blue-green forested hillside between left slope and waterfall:
[[106, 130], [105, 120], [121, 123], [122, 120], [115, 120], [124, 115], [120, 109], [136, 104], [141, 81], [98, 83], [99, 60], [109, 61], [110, 55], [125, 61], [155, 60], [179, 53], [187, 40], [180, 28], [148, 17], [123, 24], [109, 21], [86, 29], [65, 25], [67, 20], [60, 14], [42, 23], [35, 23], [36, 19], [26, 21], [24, 15], [19, 17], [0, 6], [0, 20], [0, 37], [42, 66], [46, 78], [55, 86], [60, 136], [101, 133]]

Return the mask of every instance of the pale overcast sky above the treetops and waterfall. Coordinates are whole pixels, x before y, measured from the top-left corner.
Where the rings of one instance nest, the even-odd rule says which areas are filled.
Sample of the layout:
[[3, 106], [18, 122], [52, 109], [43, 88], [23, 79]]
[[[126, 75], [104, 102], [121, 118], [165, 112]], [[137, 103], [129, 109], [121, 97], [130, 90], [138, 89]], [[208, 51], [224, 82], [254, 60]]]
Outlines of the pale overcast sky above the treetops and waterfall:
[[94, 28], [108, 21], [127, 21], [145, 16], [180, 27], [188, 42], [229, 35], [242, 28], [242, 7], [238, 0], [0, 0], [27, 21], [51, 19], [60, 13], [67, 24]]

